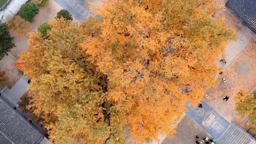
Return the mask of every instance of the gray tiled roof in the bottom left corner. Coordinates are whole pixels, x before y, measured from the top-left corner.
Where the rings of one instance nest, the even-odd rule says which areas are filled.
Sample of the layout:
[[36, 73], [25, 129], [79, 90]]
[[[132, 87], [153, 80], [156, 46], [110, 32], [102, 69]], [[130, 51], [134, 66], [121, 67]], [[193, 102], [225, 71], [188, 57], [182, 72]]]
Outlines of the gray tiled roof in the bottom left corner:
[[44, 136], [0, 98], [0, 143], [39, 144]]

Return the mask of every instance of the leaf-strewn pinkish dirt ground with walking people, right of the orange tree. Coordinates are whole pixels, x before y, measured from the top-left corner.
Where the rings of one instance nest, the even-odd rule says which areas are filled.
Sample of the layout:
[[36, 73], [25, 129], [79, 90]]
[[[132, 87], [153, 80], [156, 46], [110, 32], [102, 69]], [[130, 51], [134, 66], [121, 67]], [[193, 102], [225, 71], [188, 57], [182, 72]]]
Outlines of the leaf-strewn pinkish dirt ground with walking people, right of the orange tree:
[[[218, 79], [225, 78], [227, 82], [219, 83], [211, 88], [208, 95], [211, 96], [207, 103], [211, 105], [220, 115], [225, 117], [229, 122], [235, 121], [245, 130], [252, 125], [244, 126], [243, 123], [247, 118], [237, 116], [235, 109], [234, 95], [240, 89], [252, 90], [256, 86], [256, 39], [251, 39], [247, 45], [232, 60], [229, 66], [223, 70], [223, 74]], [[229, 96], [228, 101], [223, 100]]]

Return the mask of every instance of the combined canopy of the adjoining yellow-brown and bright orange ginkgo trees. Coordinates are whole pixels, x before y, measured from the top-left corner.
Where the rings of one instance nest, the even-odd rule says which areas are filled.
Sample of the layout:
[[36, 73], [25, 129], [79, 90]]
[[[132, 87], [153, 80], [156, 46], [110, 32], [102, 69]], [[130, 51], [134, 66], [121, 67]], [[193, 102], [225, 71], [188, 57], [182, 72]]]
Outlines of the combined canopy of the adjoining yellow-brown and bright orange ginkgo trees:
[[215, 62], [234, 30], [214, 0], [107, 0], [100, 18], [49, 24], [21, 54], [31, 107], [56, 143], [143, 143], [175, 132], [185, 104], [216, 83]]

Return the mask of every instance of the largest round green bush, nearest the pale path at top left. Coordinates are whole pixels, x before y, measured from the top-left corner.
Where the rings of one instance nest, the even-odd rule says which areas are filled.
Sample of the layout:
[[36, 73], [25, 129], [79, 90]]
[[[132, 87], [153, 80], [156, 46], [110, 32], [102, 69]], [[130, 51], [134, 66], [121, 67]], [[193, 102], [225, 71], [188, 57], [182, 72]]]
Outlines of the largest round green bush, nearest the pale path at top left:
[[32, 22], [33, 18], [39, 13], [39, 7], [34, 2], [28, 2], [21, 5], [19, 15], [26, 21]]

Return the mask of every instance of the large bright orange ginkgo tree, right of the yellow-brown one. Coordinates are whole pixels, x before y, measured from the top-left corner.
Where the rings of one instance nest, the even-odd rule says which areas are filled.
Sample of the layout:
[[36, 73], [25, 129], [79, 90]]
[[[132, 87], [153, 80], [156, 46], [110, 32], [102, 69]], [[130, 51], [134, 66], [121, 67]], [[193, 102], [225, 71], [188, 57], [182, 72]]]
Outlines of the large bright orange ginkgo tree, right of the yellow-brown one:
[[[107, 95], [127, 114], [134, 141], [170, 136], [186, 111], [216, 83], [223, 44], [235, 39], [214, 0], [106, 0], [82, 43], [108, 77]], [[111, 142], [111, 141], [110, 141]]]

